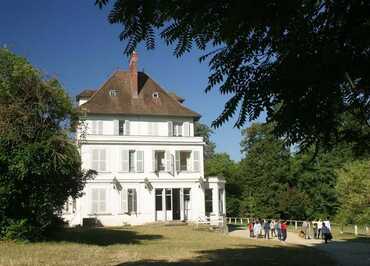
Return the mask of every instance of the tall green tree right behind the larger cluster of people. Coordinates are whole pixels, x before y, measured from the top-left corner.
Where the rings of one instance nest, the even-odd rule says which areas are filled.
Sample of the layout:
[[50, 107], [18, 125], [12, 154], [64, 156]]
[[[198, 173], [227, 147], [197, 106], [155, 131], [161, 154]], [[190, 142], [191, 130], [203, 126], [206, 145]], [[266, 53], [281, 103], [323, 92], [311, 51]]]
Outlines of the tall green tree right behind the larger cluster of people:
[[[287, 203], [282, 201], [290, 195], [294, 184], [290, 180], [290, 152], [282, 140], [272, 134], [270, 124], [254, 123], [242, 131], [240, 162], [243, 176], [242, 213], [273, 218], [287, 214]], [[281, 206], [281, 203], [284, 205]]]

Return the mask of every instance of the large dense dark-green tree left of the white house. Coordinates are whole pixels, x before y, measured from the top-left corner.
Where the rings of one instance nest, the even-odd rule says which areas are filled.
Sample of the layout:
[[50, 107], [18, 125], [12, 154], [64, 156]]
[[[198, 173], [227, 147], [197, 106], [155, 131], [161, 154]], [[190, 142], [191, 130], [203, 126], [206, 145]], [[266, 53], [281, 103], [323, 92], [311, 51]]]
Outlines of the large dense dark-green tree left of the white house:
[[93, 171], [69, 138], [77, 112], [56, 79], [0, 49], [0, 238], [34, 240]]

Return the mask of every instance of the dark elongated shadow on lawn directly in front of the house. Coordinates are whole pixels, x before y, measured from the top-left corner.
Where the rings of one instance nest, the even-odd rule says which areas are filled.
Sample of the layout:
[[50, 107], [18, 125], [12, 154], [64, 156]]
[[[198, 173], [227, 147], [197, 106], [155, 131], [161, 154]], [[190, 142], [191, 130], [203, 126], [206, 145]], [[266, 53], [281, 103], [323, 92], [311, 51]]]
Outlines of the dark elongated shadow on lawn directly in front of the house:
[[138, 234], [129, 228], [65, 228], [51, 234], [47, 241], [72, 242], [97, 246], [140, 244], [161, 239], [161, 235]]

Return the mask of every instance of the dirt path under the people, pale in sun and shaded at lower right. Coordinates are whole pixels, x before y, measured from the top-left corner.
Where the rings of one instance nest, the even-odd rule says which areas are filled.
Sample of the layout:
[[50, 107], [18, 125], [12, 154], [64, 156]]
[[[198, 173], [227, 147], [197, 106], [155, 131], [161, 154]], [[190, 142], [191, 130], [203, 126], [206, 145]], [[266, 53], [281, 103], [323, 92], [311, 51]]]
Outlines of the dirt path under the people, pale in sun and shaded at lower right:
[[[229, 235], [249, 239], [249, 234], [246, 232], [246, 230], [235, 230], [230, 232]], [[328, 244], [325, 244], [319, 239], [303, 239], [296, 233], [288, 232], [288, 238], [285, 243], [286, 245], [303, 245], [307, 247], [313, 247], [327, 252], [337, 261], [338, 266], [370, 265], [369, 242], [334, 240]]]

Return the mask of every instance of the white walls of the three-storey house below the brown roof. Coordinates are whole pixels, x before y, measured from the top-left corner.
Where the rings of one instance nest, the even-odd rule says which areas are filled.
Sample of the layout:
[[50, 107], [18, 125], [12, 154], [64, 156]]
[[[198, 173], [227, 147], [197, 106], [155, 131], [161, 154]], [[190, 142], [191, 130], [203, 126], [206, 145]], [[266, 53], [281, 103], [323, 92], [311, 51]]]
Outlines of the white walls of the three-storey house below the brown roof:
[[66, 203], [71, 226], [197, 222], [225, 214], [225, 182], [204, 178], [203, 139], [193, 118], [90, 115], [78, 132], [82, 167], [98, 175]]

